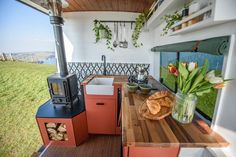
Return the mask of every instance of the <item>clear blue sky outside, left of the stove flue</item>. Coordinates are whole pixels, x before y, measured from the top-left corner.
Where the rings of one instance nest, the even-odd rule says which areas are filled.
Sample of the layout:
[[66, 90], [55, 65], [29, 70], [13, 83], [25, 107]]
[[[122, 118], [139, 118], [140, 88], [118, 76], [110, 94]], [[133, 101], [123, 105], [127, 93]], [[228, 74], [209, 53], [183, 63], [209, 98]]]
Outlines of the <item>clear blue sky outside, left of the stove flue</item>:
[[49, 17], [15, 0], [0, 0], [0, 53], [54, 51]]

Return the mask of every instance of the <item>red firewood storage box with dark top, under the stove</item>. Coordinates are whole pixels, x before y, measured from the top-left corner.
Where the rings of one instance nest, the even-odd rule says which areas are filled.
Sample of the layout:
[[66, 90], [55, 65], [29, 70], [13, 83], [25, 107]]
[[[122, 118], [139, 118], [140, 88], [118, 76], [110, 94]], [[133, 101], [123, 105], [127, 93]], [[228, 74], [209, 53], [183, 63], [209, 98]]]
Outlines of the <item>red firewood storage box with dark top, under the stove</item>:
[[88, 138], [86, 113], [79, 104], [55, 109], [49, 100], [39, 107], [36, 120], [45, 146], [78, 146]]

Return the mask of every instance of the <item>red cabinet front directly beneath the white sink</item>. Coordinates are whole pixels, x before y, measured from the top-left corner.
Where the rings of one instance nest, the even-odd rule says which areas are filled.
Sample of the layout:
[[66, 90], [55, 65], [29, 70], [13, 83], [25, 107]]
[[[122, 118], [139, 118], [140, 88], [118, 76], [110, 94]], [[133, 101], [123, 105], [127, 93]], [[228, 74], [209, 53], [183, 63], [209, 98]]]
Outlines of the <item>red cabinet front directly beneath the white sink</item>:
[[121, 85], [114, 84], [113, 95], [88, 95], [84, 86], [88, 133], [120, 134]]

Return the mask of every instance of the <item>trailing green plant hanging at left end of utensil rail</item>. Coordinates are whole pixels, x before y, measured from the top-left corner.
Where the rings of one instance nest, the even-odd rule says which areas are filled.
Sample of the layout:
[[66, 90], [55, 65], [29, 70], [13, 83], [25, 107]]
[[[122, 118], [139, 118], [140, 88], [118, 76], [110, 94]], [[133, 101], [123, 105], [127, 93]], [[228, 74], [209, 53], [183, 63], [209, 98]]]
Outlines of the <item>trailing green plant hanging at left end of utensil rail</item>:
[[96, 36], [96, 43], [99, 42], [101, 39], [106, 39], [106, 46], [108, 49], [114, 51], [114, 49], [111, 46], [111, 40], [112, 40], [112, 31], [109, 28], [108, 25], [102, 24], [98, 20], [94, 20], [94, 28], [93, 31], [95, 32]]

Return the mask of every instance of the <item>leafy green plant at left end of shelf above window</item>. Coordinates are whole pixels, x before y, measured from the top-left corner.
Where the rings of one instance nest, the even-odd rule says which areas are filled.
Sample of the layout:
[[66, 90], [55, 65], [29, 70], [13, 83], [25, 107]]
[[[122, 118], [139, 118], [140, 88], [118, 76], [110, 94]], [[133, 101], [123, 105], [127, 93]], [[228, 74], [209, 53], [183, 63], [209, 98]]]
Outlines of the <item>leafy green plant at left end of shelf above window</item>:
[[165, 15], [164, 17], [162, 17], [165, 22], [166, 22], [166, 26], [163, 28], [163, 34], [162, 35], [166, 35], [169, 31], [169, 29], [171, 28], [171, 26], [173, 26], [176, 22], [180, 21], [182, 19], [182, 16], [176, 11], [173, 15]]

